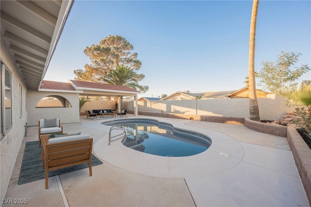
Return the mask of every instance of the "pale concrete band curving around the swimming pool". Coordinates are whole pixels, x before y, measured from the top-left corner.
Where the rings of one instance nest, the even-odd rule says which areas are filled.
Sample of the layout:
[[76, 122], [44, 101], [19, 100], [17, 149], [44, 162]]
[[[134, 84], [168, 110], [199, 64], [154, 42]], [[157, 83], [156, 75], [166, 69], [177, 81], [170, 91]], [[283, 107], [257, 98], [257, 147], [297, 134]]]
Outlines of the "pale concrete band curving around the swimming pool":
[[[135, 117], [131, 119], [135, 119]], [[100, 159], [123, 170], [140, 175], [166, 178], [195, 178], [217, 175], [235, 168], [243, 159], [244, 149], [242, 144], [224, 133], [204, 128], [189, 127], [183, 123], [173, 121], [165, 121], [165, 123], [172, 124], [176, 128], [187, 127], [190, 131], [205, 134], [210, 137], [212, 144], [206, 151], [197, 155], [164, 157], [128, 148], [121, 143], [121, 140], [108, 145], [109, 134], [107, 133], [103, 138], [94, 143], [93, 152]], [[111, 127], [103, 126], [107, 128], [107, 131]], [[206, 163], [206, 166], [213, 167], [207, 168], [202, 166], [201, 163]]]

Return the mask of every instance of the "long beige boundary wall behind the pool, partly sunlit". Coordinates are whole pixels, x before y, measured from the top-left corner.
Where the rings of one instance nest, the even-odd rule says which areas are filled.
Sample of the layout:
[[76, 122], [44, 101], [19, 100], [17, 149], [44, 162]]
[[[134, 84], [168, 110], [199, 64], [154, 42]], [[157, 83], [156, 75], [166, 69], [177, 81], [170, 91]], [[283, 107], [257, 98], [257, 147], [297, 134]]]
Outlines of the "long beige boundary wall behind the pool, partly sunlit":
[[[261, 120], [277, 120], [286, 112], [294, 111], [284, 105], [284, 98], [269, 96], [258, 98], [259, 115]], [[127, 109], [134, 110], [134, 102], [127, 103]], [[249, 117], [248, 98], [218, 98], [200, 100], [158, 100], [139, 101], [138, 111], [183, 113], [209, 116]]]

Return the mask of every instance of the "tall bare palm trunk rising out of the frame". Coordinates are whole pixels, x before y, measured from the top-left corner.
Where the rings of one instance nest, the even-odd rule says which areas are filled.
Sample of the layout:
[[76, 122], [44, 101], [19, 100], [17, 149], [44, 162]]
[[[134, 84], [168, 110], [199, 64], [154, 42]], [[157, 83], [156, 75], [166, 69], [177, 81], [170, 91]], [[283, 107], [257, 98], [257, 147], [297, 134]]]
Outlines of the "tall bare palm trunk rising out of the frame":
[[255, 82], [255, 36], [259, 0], [253, 0], [252, 17], [249, 34], [248, 84], [249, 84], [249, 116], [251, 120], [260, 122], [259, 107]]

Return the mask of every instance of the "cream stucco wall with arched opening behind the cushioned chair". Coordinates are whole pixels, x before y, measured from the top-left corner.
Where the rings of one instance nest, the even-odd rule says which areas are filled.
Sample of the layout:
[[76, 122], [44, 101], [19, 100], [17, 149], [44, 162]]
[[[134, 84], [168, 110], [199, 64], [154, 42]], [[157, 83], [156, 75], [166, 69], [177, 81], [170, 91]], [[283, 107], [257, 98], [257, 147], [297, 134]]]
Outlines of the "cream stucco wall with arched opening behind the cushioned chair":
[[[35, 108], [37, 103], [46, 96], [62, 96], [66, 98], [71, 108]], [[38, 126], [38, 120], [42, 118], [59, 118], [61, 124], [80, 122], [79, 114], [79, 94], [75, 93], [55, 93], [43, 91], [28, 91], [28, 126]]]

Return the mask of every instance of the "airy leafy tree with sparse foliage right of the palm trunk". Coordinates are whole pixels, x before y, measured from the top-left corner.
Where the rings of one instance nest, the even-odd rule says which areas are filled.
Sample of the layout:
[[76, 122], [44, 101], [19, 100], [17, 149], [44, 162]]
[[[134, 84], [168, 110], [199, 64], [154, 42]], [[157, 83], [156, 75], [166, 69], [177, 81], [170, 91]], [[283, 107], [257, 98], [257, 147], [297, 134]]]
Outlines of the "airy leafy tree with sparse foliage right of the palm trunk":
[[259, 72], [259, 85], [263, 86], [265, 90], [273, 93], [280, 93], [282, 88], [289, 87], [302, 74], [308, 72], [310, 67], [308, 65], [301, 65], [295, 70], [290, 67], [298, 61], [300, 53], [281, 52], [275, 63], [270, 61], [263, 61]]

